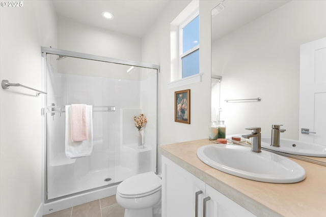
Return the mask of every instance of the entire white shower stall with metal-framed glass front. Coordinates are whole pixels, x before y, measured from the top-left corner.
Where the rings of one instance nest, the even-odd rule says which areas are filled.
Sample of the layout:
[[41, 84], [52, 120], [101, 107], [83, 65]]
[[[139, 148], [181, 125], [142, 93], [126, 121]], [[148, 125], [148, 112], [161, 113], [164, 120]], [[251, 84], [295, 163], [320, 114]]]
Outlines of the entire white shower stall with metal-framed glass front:
[[[42, 57], [44, 203], [157, 172], [159, 66], [44, 47]], [[71, 104], [93, 107], [90, 156], [66, 157], [65, 106]], [[141, 113], [148, 122], [140, 148], [133, 116]]]

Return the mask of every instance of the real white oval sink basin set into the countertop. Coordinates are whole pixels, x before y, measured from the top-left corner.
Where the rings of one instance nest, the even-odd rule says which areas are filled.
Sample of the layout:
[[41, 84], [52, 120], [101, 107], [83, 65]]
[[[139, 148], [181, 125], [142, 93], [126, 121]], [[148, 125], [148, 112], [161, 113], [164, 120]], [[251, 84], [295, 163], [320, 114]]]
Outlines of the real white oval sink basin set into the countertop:
[[256, 181], [294, 183], [306, 177], [305, 169], [294, 161], [264, 150], [255, 153], [246, 146], [204, 145], [197, 156], [215, 169]]

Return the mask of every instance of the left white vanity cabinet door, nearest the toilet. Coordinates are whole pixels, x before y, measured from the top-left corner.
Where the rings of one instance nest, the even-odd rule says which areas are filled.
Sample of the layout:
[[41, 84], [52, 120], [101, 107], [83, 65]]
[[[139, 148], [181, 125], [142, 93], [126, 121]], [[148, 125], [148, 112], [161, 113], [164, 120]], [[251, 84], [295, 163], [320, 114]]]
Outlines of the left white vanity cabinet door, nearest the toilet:
[[195, 217], [196, 192], [198, 217], [203, 216], [205, 182], [162, 156], [162, 216]]

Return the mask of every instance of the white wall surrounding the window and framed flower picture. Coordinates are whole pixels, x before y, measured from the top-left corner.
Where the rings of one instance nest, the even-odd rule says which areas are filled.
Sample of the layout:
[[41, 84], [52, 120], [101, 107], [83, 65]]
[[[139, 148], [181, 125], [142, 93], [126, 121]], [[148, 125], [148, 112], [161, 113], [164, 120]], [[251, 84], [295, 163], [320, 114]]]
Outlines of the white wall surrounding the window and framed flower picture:
[[[160, 144], [208, 138], [210, 121], [210, 11], [215, 1], [199, 1], [200, 73], [202, 82], [168, 88], [170, 23], [191, 1], [172, 1], [143, 38], [143, 61], [160, 65]], [[214, 3], [215, 2], [215, 3]], [[218, 4], [218, 3], [217, 3]], [[191, 124], [174, 121], [174, 92], [191, 89]]]

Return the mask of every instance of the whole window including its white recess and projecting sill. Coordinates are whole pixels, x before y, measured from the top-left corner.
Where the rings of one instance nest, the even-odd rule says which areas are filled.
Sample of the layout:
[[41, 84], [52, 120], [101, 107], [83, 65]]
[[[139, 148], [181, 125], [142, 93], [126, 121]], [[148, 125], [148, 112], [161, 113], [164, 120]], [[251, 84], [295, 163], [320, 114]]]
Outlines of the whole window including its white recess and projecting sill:
[[199, 1], [191, 1], [171, 22], [168, 88], [202, 81], [199, 73], [199, 19]]

